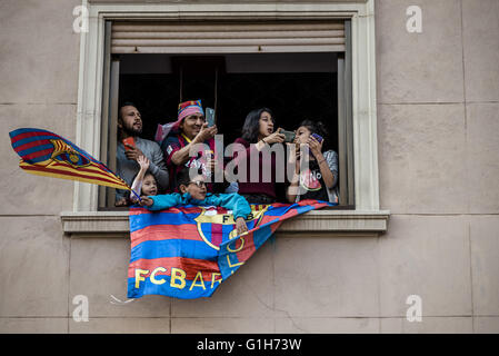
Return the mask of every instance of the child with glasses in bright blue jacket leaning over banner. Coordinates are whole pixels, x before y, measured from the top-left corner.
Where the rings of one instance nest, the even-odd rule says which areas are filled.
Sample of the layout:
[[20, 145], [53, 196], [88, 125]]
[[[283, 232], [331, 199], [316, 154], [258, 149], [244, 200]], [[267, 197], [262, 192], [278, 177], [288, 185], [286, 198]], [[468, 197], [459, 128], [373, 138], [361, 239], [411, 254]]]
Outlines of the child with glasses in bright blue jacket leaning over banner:
[[141, 197], [140, 205], [149, 210], [162, 210], [177, 205], [217, 206], [232, 210], [238, 235], [248, 231], [246, 219], [251, 212], [248, 201], [237, 192], [233, 194], [207, 194], [207, 186], [202, 175], [189, 176], [189, 168], [183, 167], [177, 177], [180, 192], [159, 196]]

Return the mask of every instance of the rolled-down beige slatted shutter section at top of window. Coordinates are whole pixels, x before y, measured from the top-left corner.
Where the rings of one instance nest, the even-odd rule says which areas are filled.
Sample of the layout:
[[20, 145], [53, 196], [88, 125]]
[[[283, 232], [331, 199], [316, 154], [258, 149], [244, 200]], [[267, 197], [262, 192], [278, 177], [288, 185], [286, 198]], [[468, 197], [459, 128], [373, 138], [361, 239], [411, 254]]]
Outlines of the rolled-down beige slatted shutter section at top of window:
[[112, 23], [112, 53], [345, 51], [343, 21]]

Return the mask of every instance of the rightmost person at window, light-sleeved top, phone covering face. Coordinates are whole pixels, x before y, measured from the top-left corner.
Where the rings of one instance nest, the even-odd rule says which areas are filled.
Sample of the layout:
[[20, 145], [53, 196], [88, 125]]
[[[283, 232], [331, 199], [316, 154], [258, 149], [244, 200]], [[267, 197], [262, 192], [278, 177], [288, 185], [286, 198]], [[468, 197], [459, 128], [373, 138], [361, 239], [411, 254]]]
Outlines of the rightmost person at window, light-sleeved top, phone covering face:
[[[322, 152], [327, 130], [322, 122], [305, 120], [296, 131], [295, 142], [300, 149], [296, 155], [295, 176], [287, 190], [289, 202], [317, 199], [338, 202], [338, 155], [333, 150]], [[309, 167], [300, 167], [303, 150], [308, 150]], [[301, 168], [301, 169], [300, 169]]]

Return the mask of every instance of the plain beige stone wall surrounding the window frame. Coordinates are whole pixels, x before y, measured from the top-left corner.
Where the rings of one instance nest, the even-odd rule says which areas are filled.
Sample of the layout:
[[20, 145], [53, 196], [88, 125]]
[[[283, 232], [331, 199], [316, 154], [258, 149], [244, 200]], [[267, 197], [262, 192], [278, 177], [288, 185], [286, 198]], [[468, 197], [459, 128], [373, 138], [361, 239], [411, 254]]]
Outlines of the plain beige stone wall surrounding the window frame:
[[[499, 333], [497, 0], [376, 1], [386, 235], [278, 234], [210, 299], [126, 305], [111, 295], [126, 299], [128, 239], [64, 236], [72, 182], [26, 175], [7, 140], [26, 126], [76, 137], [79, 3], [0, 2], [1, 333]], [[79, 294], [88, 323], [71, 318]], [[422, 323], [406, 320], [413, 294]]]

